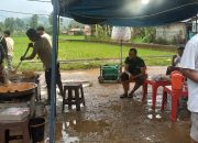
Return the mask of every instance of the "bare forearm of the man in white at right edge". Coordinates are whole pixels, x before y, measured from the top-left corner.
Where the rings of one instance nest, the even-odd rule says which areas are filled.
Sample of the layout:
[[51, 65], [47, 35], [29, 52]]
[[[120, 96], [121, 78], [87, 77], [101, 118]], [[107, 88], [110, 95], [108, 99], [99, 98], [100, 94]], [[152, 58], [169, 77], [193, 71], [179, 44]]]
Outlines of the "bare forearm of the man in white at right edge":
[[195, 82], [198, 82], [198, 72], [188, 68], [180, 68], [180, 73], [183, 73], [187, 78], [191, 79]]

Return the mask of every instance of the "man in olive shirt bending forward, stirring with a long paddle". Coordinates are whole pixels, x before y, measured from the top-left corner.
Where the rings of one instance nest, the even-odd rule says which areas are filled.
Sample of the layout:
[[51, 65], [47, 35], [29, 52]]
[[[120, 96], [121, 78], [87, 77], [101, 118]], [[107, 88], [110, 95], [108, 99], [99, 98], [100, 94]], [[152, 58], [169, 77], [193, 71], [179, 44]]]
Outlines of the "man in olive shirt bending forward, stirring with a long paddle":
[[[45, 80], [47, 85], [48, 99], [47, 103], [51, 102], [51, 76], [52, 76], [52, 46], [46, 37], [42, 37], [34, 29], [29, 29], [26, 31], [28, 37], [34, 43], [29, 44], [29, 46], [33, 47], [32, 54], [30, 56], [22, 56], [21, 61], [24, 59], [33, 59], [36, 54], [43, 63], [43, 67], [45, 69]], [[59, 65], [56, 65], [56, 84], [63, 95], [63, 86], [59, 74]]]

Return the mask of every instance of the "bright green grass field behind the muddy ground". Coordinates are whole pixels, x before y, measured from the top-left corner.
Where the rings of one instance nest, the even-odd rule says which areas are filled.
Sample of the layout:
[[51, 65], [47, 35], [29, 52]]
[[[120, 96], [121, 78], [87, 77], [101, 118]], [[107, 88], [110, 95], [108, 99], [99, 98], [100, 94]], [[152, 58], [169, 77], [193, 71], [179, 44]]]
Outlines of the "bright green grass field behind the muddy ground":
[[[59, 36], [59, 38], [65, 38], [65, 36]], [[82, 36], [68, 38], [82, 40]], [[20, 62], [20, 57], [24, 54], [28, 43], [30, 42], [28, 37], [13, 37], [14, 40], [14, 57], [13, 67], [15, 68]], [[76, 59], [91, 59], [88, 62], [76, 62], [62, 64], [62, 69], [79, 69], [79, 68], [94, 68], [99, 67], [101, 64], [118, 64], [119, 61], [108, 61], [100, 62], [98, 59], [103, 58], [120, 58], [120, 46], [108, 45], [102, 43], [87, 43], [87, 42], [69, 42], [59, 41], [58, 43], [58, 61], [76, 61]], [[123, 46], [123, 58], [128, 56], [128, 46]], [[29, 52], [29, 54], [31, 51]], [[174, 52], [162, 51], [162, 50], [146, 50], [139, 47], [139, 56], [145, 59], [146, 65], [169, 65], [170, 56]], [[158, 57], [158, 56], [169, 56], [169, 57]], [[37, 58], [34, 62], [38, 62]], [[20, 66], [20, 70], [42, 70], [41, 63], [23, 62]]]

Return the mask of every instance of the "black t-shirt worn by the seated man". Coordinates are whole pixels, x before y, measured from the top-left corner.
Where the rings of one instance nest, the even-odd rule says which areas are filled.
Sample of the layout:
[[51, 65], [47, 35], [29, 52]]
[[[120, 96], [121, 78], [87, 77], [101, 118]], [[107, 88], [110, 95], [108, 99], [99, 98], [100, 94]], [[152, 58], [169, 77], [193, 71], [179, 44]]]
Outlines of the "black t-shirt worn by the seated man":
[[144, 61], [140, 57], [135, 57], [135, 58], [127, 57], [124, 63], [129, 65], [129, 72], [132, 75], [141, 74], [141, 67], [145, 67]]

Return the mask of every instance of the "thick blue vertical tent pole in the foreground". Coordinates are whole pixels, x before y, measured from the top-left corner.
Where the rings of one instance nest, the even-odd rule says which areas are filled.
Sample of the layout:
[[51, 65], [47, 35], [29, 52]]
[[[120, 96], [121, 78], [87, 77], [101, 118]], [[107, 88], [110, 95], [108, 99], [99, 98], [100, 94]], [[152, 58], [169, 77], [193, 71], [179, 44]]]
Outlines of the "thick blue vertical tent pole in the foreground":
[[56, 98], [56, 46], [57, 46], [57, 11], [58, 11], [58, 1], [52, 0], [53, 2], [53, 52], [52, 52], [52, 79], [51, 80], [51, 109], [50, 109], [50, 143], [55, 143], [55, 98]]

